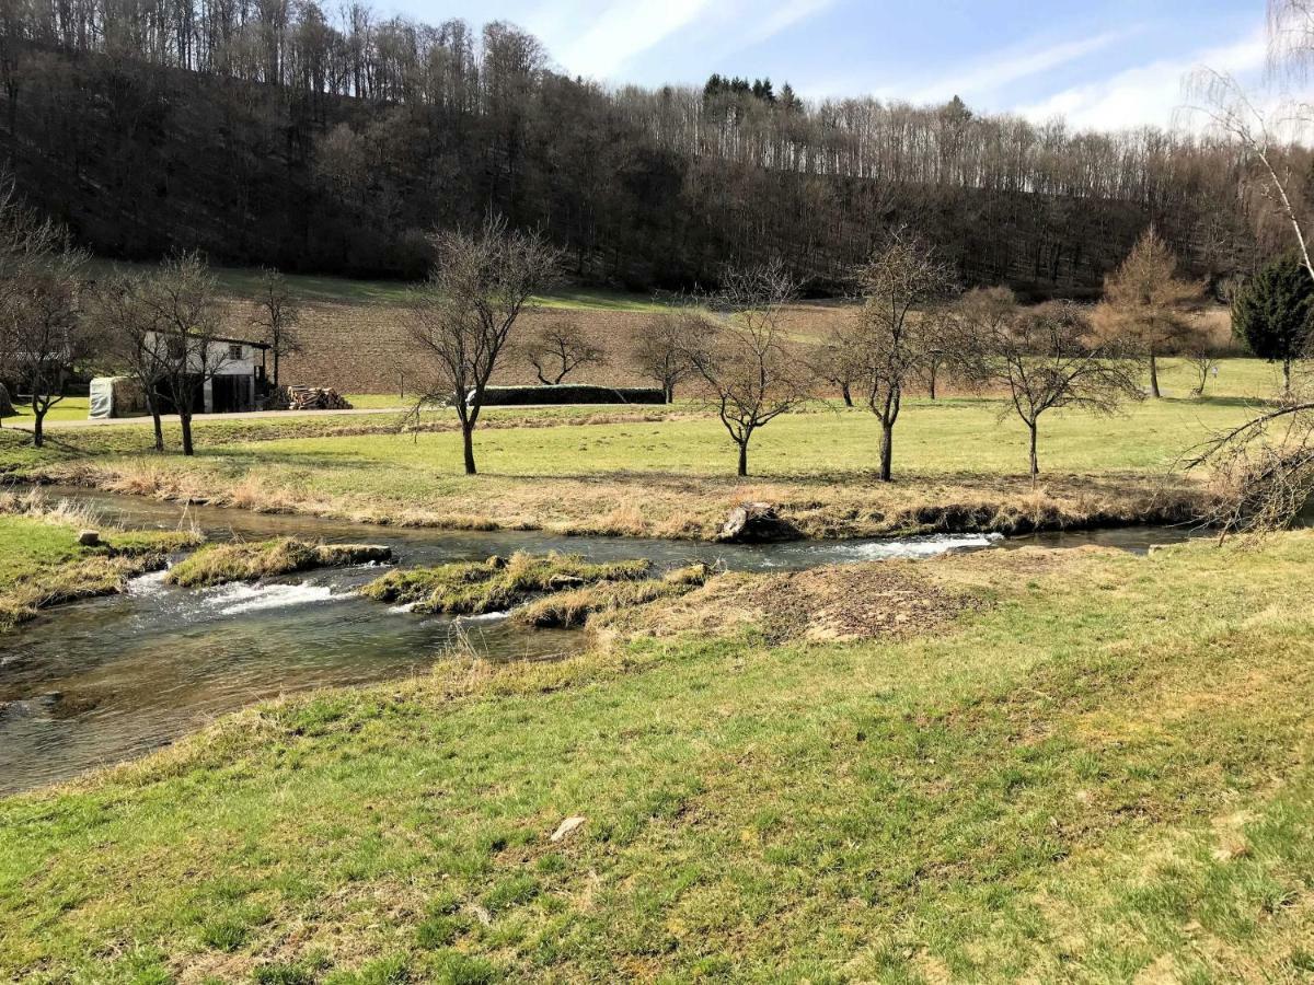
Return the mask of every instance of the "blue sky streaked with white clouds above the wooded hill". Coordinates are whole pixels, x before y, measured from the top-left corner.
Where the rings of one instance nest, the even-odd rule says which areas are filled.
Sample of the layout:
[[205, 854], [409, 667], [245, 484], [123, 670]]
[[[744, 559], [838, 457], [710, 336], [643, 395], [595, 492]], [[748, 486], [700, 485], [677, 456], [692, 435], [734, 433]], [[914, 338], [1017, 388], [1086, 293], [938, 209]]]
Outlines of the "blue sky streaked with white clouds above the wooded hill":
[[1263, 72], [1264, 0], [388, 0], [436, 22], [511, 21], [570, 75], [788, 81], [805, 97], [879, 96], [1063, 116], [1076, 127], [1183, 125], [1183, 76]]

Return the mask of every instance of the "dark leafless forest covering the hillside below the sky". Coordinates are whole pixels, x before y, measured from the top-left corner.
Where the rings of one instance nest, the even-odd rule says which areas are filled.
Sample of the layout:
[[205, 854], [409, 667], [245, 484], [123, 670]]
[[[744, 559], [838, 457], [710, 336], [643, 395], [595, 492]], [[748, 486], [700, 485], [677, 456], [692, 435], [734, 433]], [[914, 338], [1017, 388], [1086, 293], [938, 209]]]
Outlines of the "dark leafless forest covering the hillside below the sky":
[[1154, 222], [1196, 276], [1265, 252], [1226, 143], [770, 85], [604, 88], [507, 24], [286, 0], [7, 0], [3, 154], [97, 252], [418, 276], [426, 231], [541, 227], [631, 289], [782, 259], [816, 290], [913, 225], [964, 282], [1088, 294]]

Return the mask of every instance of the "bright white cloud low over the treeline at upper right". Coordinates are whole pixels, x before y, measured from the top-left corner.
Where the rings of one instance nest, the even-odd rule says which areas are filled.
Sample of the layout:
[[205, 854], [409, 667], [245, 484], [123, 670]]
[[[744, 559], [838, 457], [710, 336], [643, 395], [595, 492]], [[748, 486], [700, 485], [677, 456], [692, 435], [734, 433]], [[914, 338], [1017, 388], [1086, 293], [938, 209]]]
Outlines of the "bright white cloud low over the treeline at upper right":
[[1263, 67], [1265, 51], [1263, 30], [1256, 30], [1233, 45], [1129, 68], [1018, 106], [1016, 112], [1035, 121], [1064, 117], [1079, 130], [1171, 126], [1184, 101], [1183, 81], [1194, 68], [1209, 66], [1229, 75], [1248, 76]]

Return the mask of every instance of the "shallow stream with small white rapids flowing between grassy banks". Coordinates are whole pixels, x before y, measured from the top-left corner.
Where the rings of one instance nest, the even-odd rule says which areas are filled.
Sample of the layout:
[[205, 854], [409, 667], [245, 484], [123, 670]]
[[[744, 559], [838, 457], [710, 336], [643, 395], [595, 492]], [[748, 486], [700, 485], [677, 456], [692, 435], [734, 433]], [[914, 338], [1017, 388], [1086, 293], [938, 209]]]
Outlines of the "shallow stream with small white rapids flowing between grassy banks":
[[[932, 536], [904, 540], [710, 545], [530, 532], [449, 532], [371, 527], [150, 499], [50, 490], [130, 528], [198, 527], [210, 538], [298, 536], [393, 548], [403, 566], [474, 561], [516, 550], [560, 550], [595, 561], [643, 557], [658, 567], [710, 561], [729, 570], [924, 558], [1026, 544], [1102, 544], [1146, 550], [1185, 531]], [[419, 616], [367, 602], [355, 590], [378, 567], [327, 570], [259, 584], [175, 588], [163, 575], [126, 595], [66, 605], [0, 637], [0, 793], [68, 779], [162, 746], [208, 718], [252, 701], [314, 687], [422, 674], [457, 637], [490, 659], [551, 658], [582, 636], [522, 630], [501, 617]]]

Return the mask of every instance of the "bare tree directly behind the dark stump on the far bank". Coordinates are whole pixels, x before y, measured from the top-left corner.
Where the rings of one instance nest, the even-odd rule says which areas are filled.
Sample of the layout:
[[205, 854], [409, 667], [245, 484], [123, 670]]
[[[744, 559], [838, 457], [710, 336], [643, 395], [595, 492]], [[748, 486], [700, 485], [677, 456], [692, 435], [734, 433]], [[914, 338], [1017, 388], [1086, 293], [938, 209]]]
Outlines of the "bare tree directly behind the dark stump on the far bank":
[[721, 290], [707, 298], [720, 318], [685, 353], [703, 393], [738, 448], [748, 475], [748, 447], [758, 428], [809, 395], [811, 372], [781, 324], [798, 285], [779, 264], [725, 271]]

